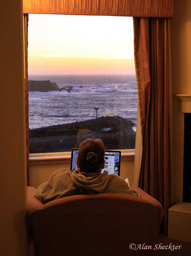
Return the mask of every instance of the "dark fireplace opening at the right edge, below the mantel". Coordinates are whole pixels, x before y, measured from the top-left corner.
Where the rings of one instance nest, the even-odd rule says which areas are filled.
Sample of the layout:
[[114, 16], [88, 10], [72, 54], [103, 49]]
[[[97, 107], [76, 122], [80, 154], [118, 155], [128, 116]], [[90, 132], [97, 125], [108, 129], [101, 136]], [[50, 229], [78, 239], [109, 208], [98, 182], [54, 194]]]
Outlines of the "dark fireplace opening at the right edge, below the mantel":
[[183, 201], [191, 203], [191, 113], [184, 114]]

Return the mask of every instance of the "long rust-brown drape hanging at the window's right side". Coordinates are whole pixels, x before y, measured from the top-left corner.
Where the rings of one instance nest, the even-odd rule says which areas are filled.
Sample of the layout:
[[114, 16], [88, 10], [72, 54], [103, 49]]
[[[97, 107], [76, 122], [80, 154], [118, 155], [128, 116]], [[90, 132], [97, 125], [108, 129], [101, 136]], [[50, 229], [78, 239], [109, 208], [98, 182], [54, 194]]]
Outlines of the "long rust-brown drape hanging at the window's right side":
[[134, 18], [142, 132], [139, 187], [163, 205], [165, 234], [171, 206], [168, 22], [166, 18]]

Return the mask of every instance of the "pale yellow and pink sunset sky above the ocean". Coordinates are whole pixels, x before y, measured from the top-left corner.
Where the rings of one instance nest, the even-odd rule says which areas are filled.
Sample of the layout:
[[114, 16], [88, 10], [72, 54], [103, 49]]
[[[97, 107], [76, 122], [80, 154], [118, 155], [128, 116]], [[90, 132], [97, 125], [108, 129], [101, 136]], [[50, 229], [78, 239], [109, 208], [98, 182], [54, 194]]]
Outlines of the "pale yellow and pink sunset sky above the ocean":
[[28, 73], [135, 74], [132, 17], [29, 14]]

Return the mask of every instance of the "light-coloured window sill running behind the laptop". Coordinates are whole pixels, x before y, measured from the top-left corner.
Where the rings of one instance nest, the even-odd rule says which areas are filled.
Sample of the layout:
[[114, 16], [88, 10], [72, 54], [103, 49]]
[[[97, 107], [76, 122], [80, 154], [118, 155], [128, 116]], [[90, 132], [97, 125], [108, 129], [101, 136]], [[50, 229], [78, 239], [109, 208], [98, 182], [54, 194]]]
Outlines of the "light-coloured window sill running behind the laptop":
[[[121, 161], [134, 160], [135, 149], [121, 150]], [[38, 164], [69, 164], [71, 152], [40, 153], [29, 155], [29, 165]]]

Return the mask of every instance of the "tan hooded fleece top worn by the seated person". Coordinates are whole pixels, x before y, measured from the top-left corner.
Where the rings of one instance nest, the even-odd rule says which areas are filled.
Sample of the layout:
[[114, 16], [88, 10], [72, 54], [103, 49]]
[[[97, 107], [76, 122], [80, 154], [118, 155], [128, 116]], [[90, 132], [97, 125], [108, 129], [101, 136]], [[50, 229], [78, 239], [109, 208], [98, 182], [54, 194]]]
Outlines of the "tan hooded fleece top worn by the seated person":
[[129, 188], [126, 181], [116, 174], [86, 173], [67, 169], [55, 171], [47, 182], [42, 183], [34, 196], [43, 204], [65, 196], [90, 193], [122, 193], [140, 197], [139, 193]]

